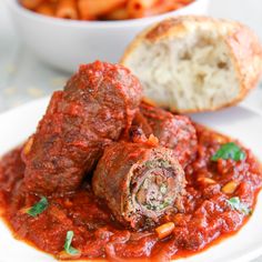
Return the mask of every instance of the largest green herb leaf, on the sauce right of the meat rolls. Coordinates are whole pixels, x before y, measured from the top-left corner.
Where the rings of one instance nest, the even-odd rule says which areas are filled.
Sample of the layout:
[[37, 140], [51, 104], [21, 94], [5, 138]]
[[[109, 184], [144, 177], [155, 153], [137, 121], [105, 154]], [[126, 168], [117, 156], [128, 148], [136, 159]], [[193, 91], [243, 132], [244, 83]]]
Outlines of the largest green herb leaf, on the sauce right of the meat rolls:
[[221, 145], [211, 160], [218, 161], [219, 159], [233, 159], [239, 161], [243, 160], [244, 158], [245, 152], [238, 144], [230, 142]]

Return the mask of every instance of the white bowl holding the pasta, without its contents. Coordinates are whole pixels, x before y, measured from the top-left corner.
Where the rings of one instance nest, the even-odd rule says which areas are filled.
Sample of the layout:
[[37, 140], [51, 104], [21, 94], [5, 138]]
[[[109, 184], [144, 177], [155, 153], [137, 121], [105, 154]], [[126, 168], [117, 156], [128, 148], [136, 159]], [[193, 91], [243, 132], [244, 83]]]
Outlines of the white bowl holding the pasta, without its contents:
[[117, 62], [128, 43], [149, 24], [180, 14], [205, 14], [209, 0], [161, 16], [124, 21], [73, 21], [41, 16], [6, 1], [21, 40], [42, 61], [73, 72], [80, 63], [94, 60]]

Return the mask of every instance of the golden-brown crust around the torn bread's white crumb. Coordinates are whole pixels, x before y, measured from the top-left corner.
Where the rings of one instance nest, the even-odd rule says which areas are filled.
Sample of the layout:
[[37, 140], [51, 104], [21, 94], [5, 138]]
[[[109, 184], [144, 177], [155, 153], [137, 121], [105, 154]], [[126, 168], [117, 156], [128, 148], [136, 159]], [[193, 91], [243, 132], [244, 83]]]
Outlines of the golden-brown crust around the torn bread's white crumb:
[[[194, 110], [181, 110], [169, 107], [170, 110], [175, 112], [194, 113], [215, 111], [222, 108], [232, 107], [242, 101], [249, 91], [256, 87], [262, 77], [262, 46], [251, 29], [235, 21], [199, 16], [169, 18], [149, 27], [138, 34], [138, 37], [129, 44], [120, 63], [125, 66], [125, 62], [129, 60], [130, 56], [132, 56], [135, 48], [143, 42], [153, 44], [172, 37], [183, 38], [200, 26], [208, 30], [216, 30], [228, 46], [240, 83], [240, 91], [232, 101], [218, 107]], [[168, 104], [158, 103], [158, 105], [167, 108]]]

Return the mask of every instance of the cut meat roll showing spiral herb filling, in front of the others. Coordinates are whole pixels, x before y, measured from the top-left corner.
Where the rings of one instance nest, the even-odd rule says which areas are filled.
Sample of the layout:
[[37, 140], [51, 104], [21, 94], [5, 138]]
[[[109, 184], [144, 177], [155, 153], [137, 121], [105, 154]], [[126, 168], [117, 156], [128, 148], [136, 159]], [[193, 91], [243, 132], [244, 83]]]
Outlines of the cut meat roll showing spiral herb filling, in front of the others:
[[121, 224], [139, 230], [154, 225], [167, 212], [180, 211], [185, 183], [172, 150], [119, 142], [104, 150], [92, 189]]

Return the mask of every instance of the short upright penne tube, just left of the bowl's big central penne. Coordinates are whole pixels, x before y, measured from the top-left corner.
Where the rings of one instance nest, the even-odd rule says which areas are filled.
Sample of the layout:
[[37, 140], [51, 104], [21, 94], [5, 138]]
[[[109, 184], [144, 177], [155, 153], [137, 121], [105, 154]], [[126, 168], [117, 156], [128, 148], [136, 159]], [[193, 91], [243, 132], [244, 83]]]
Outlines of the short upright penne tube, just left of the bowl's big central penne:
[[56, 17], [64, 19], [78, 19], [77, 0], [59, 0]]

